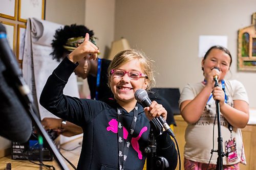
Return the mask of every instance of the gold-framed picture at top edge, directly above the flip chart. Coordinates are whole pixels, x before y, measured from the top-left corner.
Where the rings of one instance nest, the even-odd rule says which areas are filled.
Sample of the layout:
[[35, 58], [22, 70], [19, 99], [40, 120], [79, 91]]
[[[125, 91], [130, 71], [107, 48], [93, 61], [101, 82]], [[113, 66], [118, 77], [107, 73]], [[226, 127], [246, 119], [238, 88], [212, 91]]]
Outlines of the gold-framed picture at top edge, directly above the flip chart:
[[44, 19], [45, 0], [19, 0], [18, 21], [27, 22], [28, 18]]

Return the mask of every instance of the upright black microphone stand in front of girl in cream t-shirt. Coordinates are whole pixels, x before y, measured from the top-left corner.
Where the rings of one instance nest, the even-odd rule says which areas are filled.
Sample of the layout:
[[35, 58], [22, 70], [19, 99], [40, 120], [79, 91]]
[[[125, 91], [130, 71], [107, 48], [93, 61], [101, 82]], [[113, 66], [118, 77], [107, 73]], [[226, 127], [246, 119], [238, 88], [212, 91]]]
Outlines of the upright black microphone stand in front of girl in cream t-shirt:
[[[215, 81], [215, 87], [218, 86], [218, 78], [215, 77], [214, 78]], [[217, 158], [217, 165], [216, 165], [216, 169], [217, 170], [223, 170], [223, 157], [224, 152], [222, 151], [222, 137], [221, 137], [221, 121], [220, 121], [220, 101], [216, 100], [216, 114], [217, 114], [217, 124], [218, 124], [218, 158]]]

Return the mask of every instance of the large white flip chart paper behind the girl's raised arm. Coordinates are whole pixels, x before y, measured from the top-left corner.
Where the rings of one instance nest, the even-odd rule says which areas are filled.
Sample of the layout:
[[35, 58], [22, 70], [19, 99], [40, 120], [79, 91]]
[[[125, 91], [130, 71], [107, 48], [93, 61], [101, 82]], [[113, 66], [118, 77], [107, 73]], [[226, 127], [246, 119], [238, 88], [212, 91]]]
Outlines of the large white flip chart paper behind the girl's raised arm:
[[[23, 54], [23, 74], [26, 83], [32, 91], [34, 104], [38, 107], [40, 119], [45, 117], [57, 116], [50, 113], [39, 104], [39, 98], [48, 77], [59, 64], [53, 60], [50, 53], [53, 51], [51, 43], [55, 31], [61, 28], [62, 25], [46, 20], [29, 18], [27, 20], [27, 29], [25, 35], [25, 47]], [[66, 87], [63, 90], [66, 95], [79, 98], [77, 79], [75, 74], [72, 74]], [[69, 141], [74, 137], [60, 138], [60, 141]], [[61, 142], [62, 143], [62, 142]]]

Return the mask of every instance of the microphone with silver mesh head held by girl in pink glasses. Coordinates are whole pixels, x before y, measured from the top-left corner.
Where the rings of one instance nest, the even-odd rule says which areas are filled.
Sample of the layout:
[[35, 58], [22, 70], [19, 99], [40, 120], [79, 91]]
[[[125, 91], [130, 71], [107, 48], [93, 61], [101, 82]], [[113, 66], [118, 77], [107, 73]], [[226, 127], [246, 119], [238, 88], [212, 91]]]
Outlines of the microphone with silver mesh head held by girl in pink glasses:
[[[149, 107], [152, 104], [150, 98], [148, 98], [146, 90], [138, 89], [135, 91], [134, 96], [135, 96], [135, 99], [138, 102], [140, 102], [144, 107]], [[166, 123], [166, 121], [162, 116], [155, 117], [154, 119], [157, 119], [158, 122], [161, 123], [165, 131], [167, 131], [170, 136], [172, 136], [173, 138], [175, 137], [172, 129], [170, 129], [170, 127], [168, 126], [168, 124]]]

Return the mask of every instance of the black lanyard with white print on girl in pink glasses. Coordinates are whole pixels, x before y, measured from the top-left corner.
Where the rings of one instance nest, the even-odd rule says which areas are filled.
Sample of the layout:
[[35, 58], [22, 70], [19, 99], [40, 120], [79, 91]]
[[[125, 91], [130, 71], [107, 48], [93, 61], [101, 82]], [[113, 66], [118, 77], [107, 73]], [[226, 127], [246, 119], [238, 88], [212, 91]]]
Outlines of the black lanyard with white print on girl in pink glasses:
[[132, 140], [132, 135], [136, 126], [136, 121], [138, 117], [138, 104], [136, 104], [135, 108], [133, 109], [134, 116], [133, 122], [131, 124], [130, 129], [128, 129], [128, 135], [126, 138], [126, 142], [124, 143], [124, 136], [123, 136], [123, 116], [122, 116], [122, 109], [117, 108], [117, 119], [118, 119], [118, 163], [119, 169], [122, 170], [124, 167], [124, 162], [126, 160], [127, 154], [129, 152], [129, 147]]

